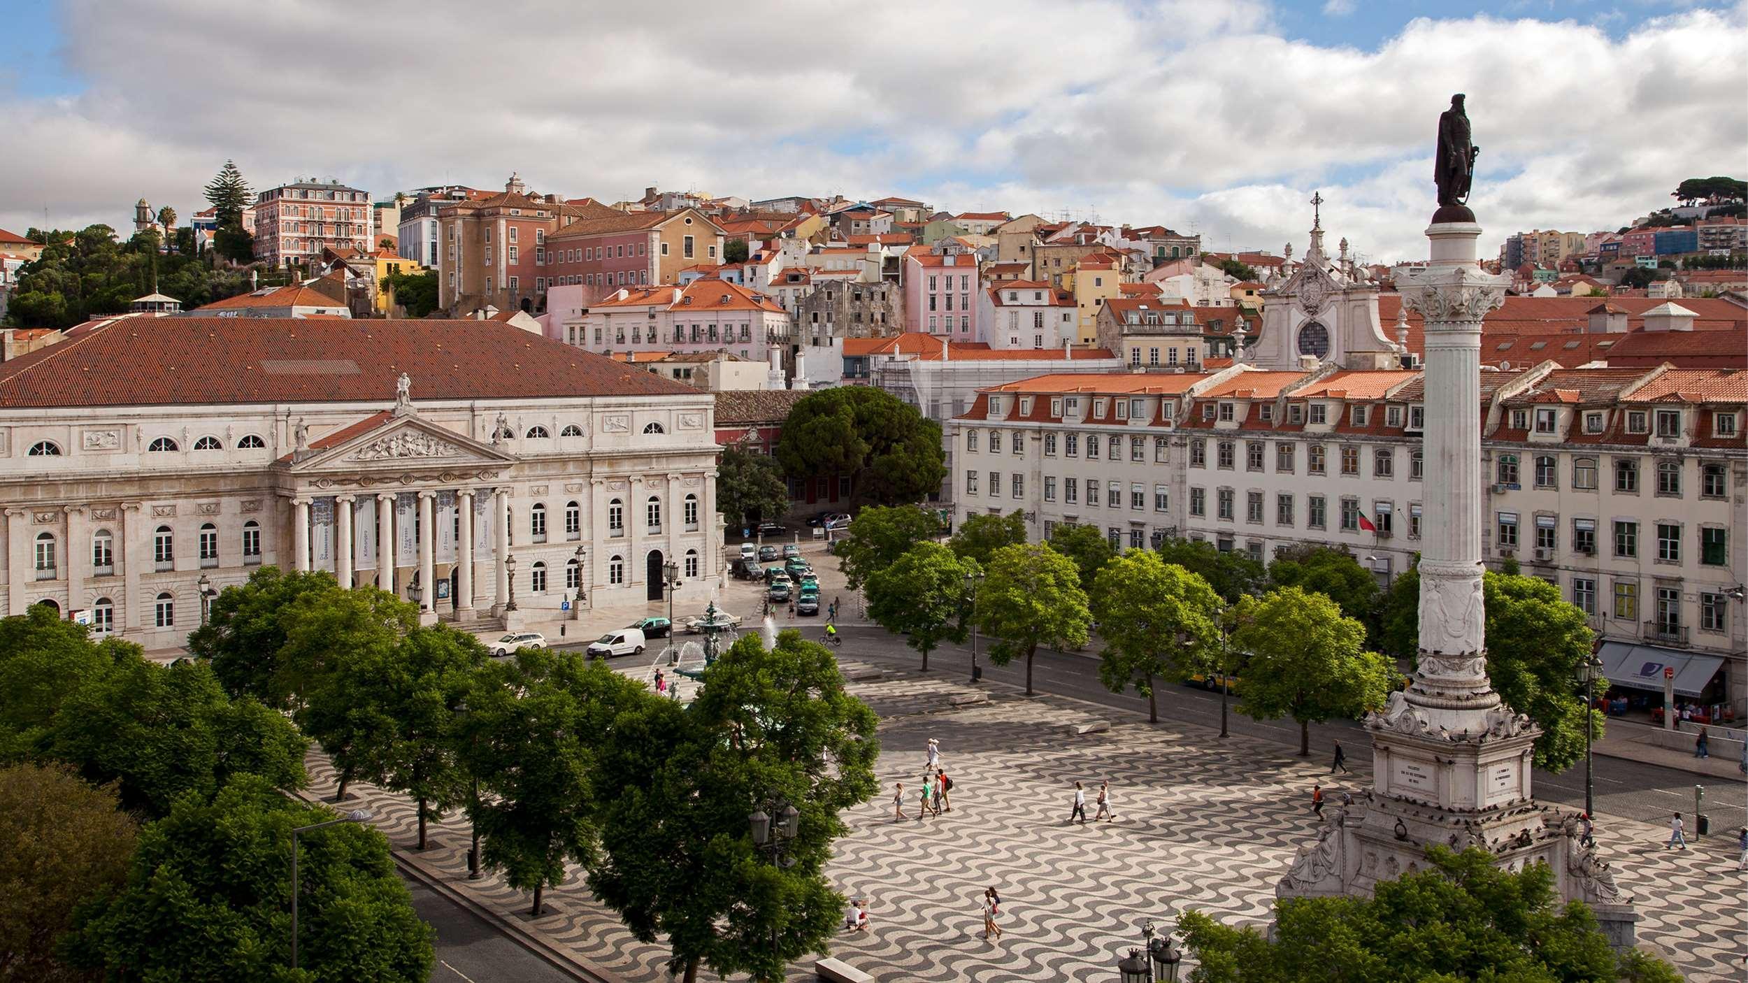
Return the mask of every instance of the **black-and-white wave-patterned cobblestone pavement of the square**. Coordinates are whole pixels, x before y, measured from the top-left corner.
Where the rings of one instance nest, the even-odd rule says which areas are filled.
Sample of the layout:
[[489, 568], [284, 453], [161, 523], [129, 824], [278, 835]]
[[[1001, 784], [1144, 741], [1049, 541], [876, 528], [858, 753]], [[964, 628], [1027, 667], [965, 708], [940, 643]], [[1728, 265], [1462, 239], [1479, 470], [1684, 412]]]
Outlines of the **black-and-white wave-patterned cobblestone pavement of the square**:
[[[855, 668], [846, 663], [846, 672]], [[628, 666], [628, 675], [636, 670]], [[1147, 918], [1168, 924], [1175, 911], [1199, 908], [1264, 922], [1276, 878], [1314, 838], [1309, 787], [1328, 778], [1327, 764], [1269, 742], [1220, 742], [1203, 728], [1148, 726], [1002, 687], [988, 687], [988, 703], [953, 707], [951, 696], [974, 689], [942, 673], [886, 673], [851, 691], [881, 714], [881, 791], [846, 815], [851, 833], [827, 871], [839, 890], [869, 899], [871, 931], [841, 934], [832, 955], [883, 983], [1110, 980]], [[1108, 721], [1110, 729], [1073, 733], [1089, 721]], [[918, 820], [928, 738], [940, 742], [954, 808]], [[332, 794], [322, 754], [311, 754], [309, 771], [311, 791]], [[897, 820], [891, 791], [900, 780], [905, 819]], [[1070, 826], [1075, 780], [1087, 787], [1089, 813], [1098, 782], [1108, 780], [1117, 819]], [[1342, 780], [1356, 789], [1365, 770]], [[1332, 801], [1341, 787], [1325, 782]], [[530, 920], [524, 894], [491, 875], [467, 880], [465, 817], [432, 826], [432, 847], [418, 852], [411, 801], [364, 784], [353, 791], [402, 855], [475, 903], [605, 974], [669, 980], [666, 950], [633, 939], [580, 873], [547, 892], [547, 917]], [[1664, 852], [1659, 829], [1603, 819], [1617, 880], [1645, 917], [1640, 938], [1662, 946], [1689, 980], [1736, 980], [1745, 875], [1736, 873], [1732, 841], [1711, 836], [1685, 854]], [[1002, 892], [1000, 941], [979, 938], [988, 883]], [[794, 966], [790, 980], [813, 980], [811, 960]]]

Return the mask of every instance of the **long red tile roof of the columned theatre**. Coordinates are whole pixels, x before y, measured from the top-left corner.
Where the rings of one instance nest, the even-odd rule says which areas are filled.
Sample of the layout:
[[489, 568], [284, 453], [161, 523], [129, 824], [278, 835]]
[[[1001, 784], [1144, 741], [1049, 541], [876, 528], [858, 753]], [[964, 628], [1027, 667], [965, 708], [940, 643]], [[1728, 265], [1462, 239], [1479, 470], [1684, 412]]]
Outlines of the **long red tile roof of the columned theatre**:
[[0, 364], [0, 408], [390, 402], [697, 390], [491, 320], [115, 318]]

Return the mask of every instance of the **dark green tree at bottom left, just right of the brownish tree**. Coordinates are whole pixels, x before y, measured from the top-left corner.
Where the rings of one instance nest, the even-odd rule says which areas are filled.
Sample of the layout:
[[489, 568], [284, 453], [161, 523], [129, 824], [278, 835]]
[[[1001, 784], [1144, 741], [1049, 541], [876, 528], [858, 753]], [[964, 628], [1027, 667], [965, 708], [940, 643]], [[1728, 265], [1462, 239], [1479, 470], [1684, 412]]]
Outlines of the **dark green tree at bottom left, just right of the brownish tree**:
[[177, 799], [140, 833], [126, 887], [80, 908], [68, 962], [108, 980], [423, 983], [432, 931], [388, 840], [357, 824], [299, 838], [301, 973], [290, 973], [292, 827], [330, 819], [253, 775], [212, 801]]

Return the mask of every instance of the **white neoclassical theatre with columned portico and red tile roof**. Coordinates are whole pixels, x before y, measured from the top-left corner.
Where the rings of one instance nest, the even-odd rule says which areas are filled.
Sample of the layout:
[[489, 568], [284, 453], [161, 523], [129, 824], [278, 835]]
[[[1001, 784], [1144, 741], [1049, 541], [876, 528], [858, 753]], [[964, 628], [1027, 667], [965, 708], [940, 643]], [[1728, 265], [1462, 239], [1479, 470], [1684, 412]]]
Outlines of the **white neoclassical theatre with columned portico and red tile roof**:
[[724, 570], [711, 411], [493, 320], [98, 322], [0, 366], [7, 612], [168, 649], [267, 563], [427, 621], [656, 600]]

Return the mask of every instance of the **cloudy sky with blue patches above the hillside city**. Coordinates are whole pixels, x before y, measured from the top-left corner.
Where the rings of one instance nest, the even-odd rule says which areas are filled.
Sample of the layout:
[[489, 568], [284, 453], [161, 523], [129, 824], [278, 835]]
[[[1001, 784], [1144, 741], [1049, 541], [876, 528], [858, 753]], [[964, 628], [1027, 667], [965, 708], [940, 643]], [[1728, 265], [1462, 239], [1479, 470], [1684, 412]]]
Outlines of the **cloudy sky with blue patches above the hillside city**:
[[1369, 259], [1423, 255], [1468, 94], [1472, 206], [1617, 227], [1748, 177], [1748, 0], [7, 0], [0, 227], [182, 215], [234, 157], [635, 198], [904, 194]]

